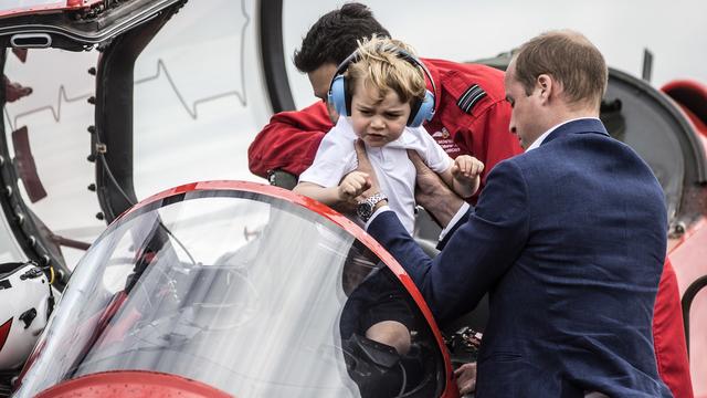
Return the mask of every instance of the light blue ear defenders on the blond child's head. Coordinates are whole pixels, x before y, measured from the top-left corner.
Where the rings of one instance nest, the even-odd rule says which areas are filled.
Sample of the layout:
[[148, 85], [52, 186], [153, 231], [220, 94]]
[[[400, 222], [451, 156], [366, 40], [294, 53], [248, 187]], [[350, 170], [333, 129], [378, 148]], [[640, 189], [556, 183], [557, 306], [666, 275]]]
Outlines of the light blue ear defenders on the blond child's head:
[[[410, 62], [415, 66], [420, 66], [430, 80], [432, 90], [436, 91], [434, 81], [432, 80], [432, 74], [430, 73], [428, 67], [420, 60], [418, 60], [418, 57], [402, 49], [395, 48], [394, 51], [397, 52], [399, 57]], [[351, 55], [347, 56], [346, 60], [344, 60], [337, 67], [336, 73], [334, 73], [334, 78], [329, 84], [329, 103], [334, 105], [336, 112], [340, 116], [348, 116], [351, 114], [351, 91], [349, 90], [346, 78], [344, 77], [344, 72], [346, 72], [350, 64], [357, 62], [358, 57], [358, 50], [355, 51]], [[419, 127], [424, 121], [432, 119], [432, 116], [434, 116], [434, 94], [429, 90], [425, 90], [424, 98], [416, 100], [412, 104], [410, 108], [410, 118], [408, 118], [407, 125], [409, 127]]]

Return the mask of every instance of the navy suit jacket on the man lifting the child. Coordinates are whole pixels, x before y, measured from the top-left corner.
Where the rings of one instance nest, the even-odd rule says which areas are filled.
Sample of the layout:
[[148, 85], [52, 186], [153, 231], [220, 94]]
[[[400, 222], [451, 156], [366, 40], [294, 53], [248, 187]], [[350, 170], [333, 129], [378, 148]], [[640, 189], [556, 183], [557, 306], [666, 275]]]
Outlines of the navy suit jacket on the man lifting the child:
[[499, 163], [434, 260], [392, 211], [368, 232], [440, 321], [489, 292], [477, 397], [671, 396], [651, 327], [667, 239], [663, 190], [600, 121], [567, 123]]

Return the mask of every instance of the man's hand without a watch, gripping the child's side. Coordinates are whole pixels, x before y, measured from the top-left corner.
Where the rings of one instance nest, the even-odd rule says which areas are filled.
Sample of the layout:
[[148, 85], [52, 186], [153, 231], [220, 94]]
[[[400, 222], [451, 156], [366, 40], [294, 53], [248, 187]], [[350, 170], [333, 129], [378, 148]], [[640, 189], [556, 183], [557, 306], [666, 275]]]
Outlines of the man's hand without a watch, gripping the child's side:
[[408, 157], [418, 170], [415, 201], [428, 210], [440, 227], [445, 228], [464, 200], [424, 164], [416, 151], [408, 149]]

